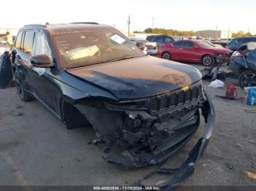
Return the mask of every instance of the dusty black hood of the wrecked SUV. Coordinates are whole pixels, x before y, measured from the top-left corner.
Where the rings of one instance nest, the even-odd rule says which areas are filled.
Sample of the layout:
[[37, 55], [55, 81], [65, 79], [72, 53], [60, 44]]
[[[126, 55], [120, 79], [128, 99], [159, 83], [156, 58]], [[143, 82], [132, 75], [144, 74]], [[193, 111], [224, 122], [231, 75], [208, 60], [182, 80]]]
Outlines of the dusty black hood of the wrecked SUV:
[[145, 98], [201, 79], [192, 66], [151, 56], [66, 69], [69, 74], [108, 90], [118, 99]]

